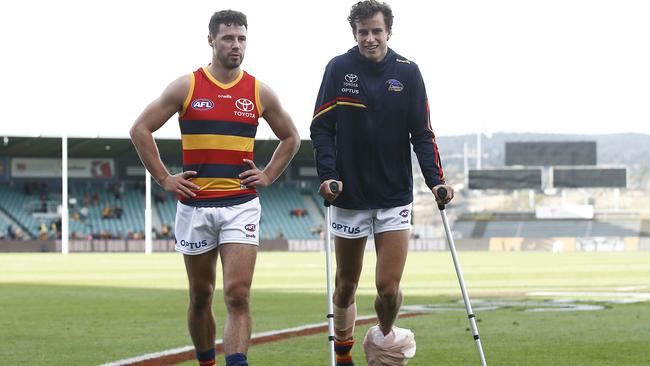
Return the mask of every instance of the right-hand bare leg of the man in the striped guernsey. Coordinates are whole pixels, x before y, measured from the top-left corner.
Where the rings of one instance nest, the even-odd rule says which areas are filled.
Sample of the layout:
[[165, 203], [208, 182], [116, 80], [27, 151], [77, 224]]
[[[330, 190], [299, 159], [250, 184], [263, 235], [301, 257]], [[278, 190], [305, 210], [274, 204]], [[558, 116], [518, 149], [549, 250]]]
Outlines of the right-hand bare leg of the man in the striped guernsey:
[[223, 296], [228, 317], [223, 330], [226, 355], [246, 354], [251, 338], [250, 288], [257, 258], [257, 245], [223, 244]]

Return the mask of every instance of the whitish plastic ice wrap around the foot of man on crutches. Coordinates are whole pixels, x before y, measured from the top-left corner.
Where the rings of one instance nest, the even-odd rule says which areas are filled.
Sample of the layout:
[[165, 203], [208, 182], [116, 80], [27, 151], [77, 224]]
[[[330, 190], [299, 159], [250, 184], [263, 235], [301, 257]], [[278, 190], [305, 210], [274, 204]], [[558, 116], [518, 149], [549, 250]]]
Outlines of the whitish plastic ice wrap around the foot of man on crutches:
[[409, 329], [393, 327], [384, 336], [375, 325], [368, 329], [363, 349], [368, 366], [404, 366], [415, 356], [415, 335]]

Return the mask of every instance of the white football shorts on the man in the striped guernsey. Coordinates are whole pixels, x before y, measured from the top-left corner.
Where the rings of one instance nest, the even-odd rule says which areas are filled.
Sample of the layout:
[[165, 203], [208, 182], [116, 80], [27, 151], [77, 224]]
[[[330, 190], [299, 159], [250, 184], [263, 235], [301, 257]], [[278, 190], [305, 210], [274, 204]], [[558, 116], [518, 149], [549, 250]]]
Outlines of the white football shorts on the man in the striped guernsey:
[[176, 205], [178, 252], [197, 255], [226, 243], [259, 245], [260, 199], [228, 207]]

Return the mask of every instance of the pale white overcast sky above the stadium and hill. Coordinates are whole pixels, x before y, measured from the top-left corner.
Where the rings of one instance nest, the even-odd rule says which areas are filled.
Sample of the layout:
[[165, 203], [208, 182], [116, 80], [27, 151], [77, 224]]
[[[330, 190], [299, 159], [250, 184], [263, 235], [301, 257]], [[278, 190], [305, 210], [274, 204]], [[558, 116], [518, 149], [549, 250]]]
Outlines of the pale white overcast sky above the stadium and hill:
[[[126, 137], [162, 89], [211, 59], [207, 25], [248, 15], [244, 69], [309, 136], [353, 1], [3, 1], [0, 134]], [[424, 76], [434, 132], [650, 133], [650, 1], [389, 2], [389, 46]], [[178, 137], [173, 117], [157, 137]], [[271, 135], [260, 121], [258, 138]]]

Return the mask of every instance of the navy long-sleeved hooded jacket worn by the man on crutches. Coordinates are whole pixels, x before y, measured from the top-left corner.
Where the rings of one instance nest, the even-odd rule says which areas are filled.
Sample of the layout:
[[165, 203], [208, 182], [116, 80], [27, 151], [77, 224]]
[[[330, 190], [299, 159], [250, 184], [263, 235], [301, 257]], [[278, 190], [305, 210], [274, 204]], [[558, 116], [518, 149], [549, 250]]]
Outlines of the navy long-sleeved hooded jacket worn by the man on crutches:
[[391, 49], [380, 62], [364, 58], [358, 47], [329, 62], [311, 139], [321, 181], [343, 182], [337, 207], [413, 202], [411, 144], [429, 188], [445, 182], [420, 70]]

